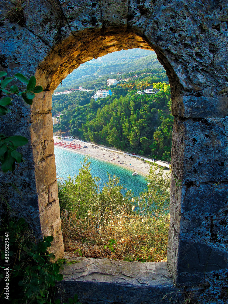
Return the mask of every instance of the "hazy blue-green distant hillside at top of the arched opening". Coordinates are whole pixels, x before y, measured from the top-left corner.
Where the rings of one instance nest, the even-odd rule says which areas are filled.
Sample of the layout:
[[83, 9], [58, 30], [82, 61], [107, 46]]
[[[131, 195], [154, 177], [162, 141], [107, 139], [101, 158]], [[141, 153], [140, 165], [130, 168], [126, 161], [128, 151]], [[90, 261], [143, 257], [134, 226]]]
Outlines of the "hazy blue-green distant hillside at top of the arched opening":
[[[113, 52], [81, 64], [62, 81], [62, 86], [59, 85], [56, 91], [78, 88], [79, 85], [90, 89], [100, 88], [101, 83], [107, 85], [107, 78], [126, 79], [134, 74], [148, 73], [149, 70], [152, 73], [165, 73], [155, 52], [142, 49]], [[117, 75], [119, 72], [124, 75]], [[168, 81], [168, 78], [165, 80]]]

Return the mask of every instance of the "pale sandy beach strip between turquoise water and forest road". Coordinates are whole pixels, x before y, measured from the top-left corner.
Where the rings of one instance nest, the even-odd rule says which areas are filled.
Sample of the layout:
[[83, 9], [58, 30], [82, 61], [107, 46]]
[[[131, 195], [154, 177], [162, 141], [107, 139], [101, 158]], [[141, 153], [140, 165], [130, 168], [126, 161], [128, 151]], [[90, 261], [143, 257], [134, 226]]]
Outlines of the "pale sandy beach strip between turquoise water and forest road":
[[62, 149], [76, 151], [77, 153], [81, 153], [84, 155], [90, 155], [91, 157], [95, 157], [102, 161], [107, 161], [113, 164], [117, 164], [119, 166], [123, 166], [132, 170], [132, 172], [138, 172], [141, 175], [146, 175], [149, 173], [149, 163], [141, 161], [139, 158], [134, 157], [133, 155], [129, 155], [128, 153], [119, 152], [114, 149], [101, 147], [92, 143], [85, 143], [81, 140], [71, 138], [59, 139], [57, 136], [53, 136], [53, 139], [54, 143], [60, 142], [66, 143], [66, 145], [75, 143], [77, 145], [81, 145], [81, 148], [76, 150], [68, 147], [58, 146]]

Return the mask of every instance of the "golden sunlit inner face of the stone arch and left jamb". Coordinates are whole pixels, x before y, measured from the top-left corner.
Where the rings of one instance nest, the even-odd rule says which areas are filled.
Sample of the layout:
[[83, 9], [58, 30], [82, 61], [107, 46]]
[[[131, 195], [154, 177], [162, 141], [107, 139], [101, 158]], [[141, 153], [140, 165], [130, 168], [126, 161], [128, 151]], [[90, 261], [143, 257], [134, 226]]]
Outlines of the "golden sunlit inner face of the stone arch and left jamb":
[[[131, 31], [119, 30], [119, 32], [116, 33], [116, 31], [110, 29], [108, 31], [84, 30], [82, 32], [79, 32], [77, 35], [71, 35], [67, 37], [67, 39], [57, 44], [54, 50], [50, 51], [50, 53], [39, 64], [36, 70], [35, 73], [36, 80], [40, 85], [43, 86], [44, 92], [40, 94], [40, 96], [42, 95], [41, 98], [40, 96], [34, 98], [33, 105], [31, 106], [31, 115], [32, 115], [31, 129], [32, 130], [36, 129], [37, 114], [38, 115], [40, 114], [42, 116], [42, 123], [40, 124], [40, 128], [44, 129], [45, 125], [48, 126], [49, 135], [50, 135], [48, 136], [49, 139], [45, 143], [44, 140], [41, 141], [43, 145], [45, 145], [45, 155], [44, 153], [42, 153], [42, 156], [40, 154], [40, 150], [41, 150], [40, 140], [37, 141], [35, 137], [33, 137], [32, 140], [33, 157], [35, 161], [35, 172], [37, 173], [39, 172], [39, 174], [36, 173], [36, 176], [38, 176], [38, 178], [36, 179], [36, 188], [37, 190], [39, 189], [37, 191], [38, 201], [40, 200], [39, 205], [41, 210], [43, 209], [42, 206], [45, 206], [44, 208], [46, 210], [48, 208], [47, 212], [46, 210], [43, 210], [43, 212], [41, 212], [43, 215], [43, 222], [45, 222], [42, 224], [42, 230], [43, 231], [46, 230], [45, 232], [46, 234], [50, 234], [50, 233], [53, 234], [54, 230], [58, 230], [57, 227], [59, 225], [59, 220], [58, 220], [58, 224], [54, 226], [54, 230], [53, 230], [52, 222], [50, 222], [49, 220], [50, 212], [53, 212], [53, 210], [59, 212], [59, 208], [58, 207], [56, 208], [56, 205], [53, 204], [51, 201], [52, 198], [50, 199], [50, 197], [53, 196], [52, 192], [54, 193], [57, 191], [55, 185], [56, 176], [54, 175], [55, 163], [53, 162], [53, 159], [51, 163], [47, 161], [49, 155], [54, 155], [54, 145], [52, 143], [53, 133], [52, 130], [50, 130], [50, 127], [52, 127], [50, 109], [51, 109], [51, 98], [52, 98], [53, 90], [56, 89], [57, 86], [60, 84], [60, 82], [69, 73], [74, 71], [74, 69], [77, 68], [80, 64], [89, 61], [93, 58], [101, 57], [108, 53], [112, 53], [114, 51], [119, 51], [122, 49], [128, 50], [130, 48], [138, 48], [138, 47], [147, 50], [156, 49], [156, 46], [152, 45], [150, 42], [147, 42], [145, 37], [137, 35], [136, 33], [133, 33]], [[168, 72], [168, 76], [171, 84], [172, 96], [179, 97], [181, 91], [180, 89], [181, 84], [179, 82], [177, 75], [175, 74], [167, 58], [164, 56], [164, 54], [161, 53], [161, 50], [160, 52], [158, 51], [158, 56], [160, 56], [160, 62], [164, 65], [164, 67]], [[33, 126], [35, 126], [35, 128]], [[34, 135], [37, 134], [37, 130], [33, 134]], [[45, 136], [47, 136], [47, 134]], [[46, 147], [48, 145], [48, 142], [50, 145], [49, 149]], [[36, 146], [36, 143], [38, 143], [38, 146]], [[42, 150], [43, 150], [43, 146], [42, 146]], [[43, 172], [52, 172], [52, 176], [54, 177], [55, 182], [50, 183], [49, 181], [47, 181]], [[47, 186], [51, 187], [51, 190], [47, 190]], [[55, 188], [55, 191], [52, 190], [53, 187]], [[45, 190], [43, 191], [43, 189]], [[49, 195], [46, 196], [46, 201], [41, 203], [41, 201], [43, 201], [44, 192], [48, 192], [48, 194], [50, 194], [50, 197]], [[58, 240], [59, 238], [60, 238], [60, 242]], [[56, 237], [55, 240], [57, 241], [57, 244], [55, 245], [55, 250], [58, 252], [60, 251], [60, 243], [62, 242], [61, 233], [59, 233], [59, 236]], [[53, 245], [52, 248], [54, 248]]]

